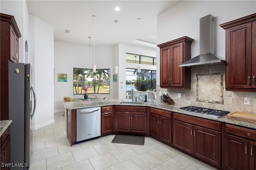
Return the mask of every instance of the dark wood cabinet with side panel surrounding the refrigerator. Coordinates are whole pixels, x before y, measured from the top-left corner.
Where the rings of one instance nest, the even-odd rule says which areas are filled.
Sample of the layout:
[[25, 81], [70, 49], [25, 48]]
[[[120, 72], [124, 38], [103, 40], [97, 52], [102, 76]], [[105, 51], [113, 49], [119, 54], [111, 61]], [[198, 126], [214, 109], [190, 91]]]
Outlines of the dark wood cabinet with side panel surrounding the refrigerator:
[[0, 119], [9, 119], [8, 63], [18, 63], [19, 38], [21, 37], [14, 16], [0, 14]]

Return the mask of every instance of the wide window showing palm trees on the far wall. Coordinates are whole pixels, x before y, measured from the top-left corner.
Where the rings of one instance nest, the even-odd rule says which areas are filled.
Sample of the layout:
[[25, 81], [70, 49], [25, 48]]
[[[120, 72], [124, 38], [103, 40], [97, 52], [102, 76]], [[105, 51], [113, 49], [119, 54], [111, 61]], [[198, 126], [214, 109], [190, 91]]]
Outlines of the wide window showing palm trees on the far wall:
[[73, 68], [73, 79], [73, 94], [83, 94], [83, 86], [92, 86], [87, 94], [110, 94], [110, 69], [96, 69], [92, 73], [92, 69]]

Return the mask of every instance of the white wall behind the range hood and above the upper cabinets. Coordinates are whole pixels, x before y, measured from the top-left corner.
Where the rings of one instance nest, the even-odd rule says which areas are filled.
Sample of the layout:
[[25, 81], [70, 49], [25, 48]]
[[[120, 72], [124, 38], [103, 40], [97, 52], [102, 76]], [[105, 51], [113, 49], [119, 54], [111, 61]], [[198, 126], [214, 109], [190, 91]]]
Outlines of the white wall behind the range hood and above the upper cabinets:
[[[199, 55], [199, 19], [212, 14], [215, 17], [215, 53], [225, 58], [225, 30], [219, 25], [256, 13], [256, 1], [182, 1], [158, 15], [157, 44], [188, 36], [194, 39], [191, 57]], [[157, 49], [157, 63], [160, 63]], [[158, 64], [157, 70], [160, 70]], [[157, 83], [160, 84], [160, 72]]]

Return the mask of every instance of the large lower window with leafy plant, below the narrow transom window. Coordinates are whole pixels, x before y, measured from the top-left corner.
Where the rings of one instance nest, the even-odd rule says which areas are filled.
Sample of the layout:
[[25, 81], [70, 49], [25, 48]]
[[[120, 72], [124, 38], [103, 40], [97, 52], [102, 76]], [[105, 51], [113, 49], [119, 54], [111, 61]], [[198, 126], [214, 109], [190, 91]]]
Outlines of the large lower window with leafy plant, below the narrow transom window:
[[126, 91], [146, 91], [156, 88], [156, 70], [141, 70], [126, 68]]

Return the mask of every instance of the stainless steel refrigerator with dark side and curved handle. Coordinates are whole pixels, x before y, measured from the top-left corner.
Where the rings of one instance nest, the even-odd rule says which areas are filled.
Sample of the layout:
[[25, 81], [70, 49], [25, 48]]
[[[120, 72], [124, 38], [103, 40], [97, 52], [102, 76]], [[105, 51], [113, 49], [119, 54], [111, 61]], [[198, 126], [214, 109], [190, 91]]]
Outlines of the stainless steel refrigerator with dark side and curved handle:
[[8, 76], [11, 169], [27, 170], [32, 157], [32, 119], [36, 108], [30, 64], [9, 63]]

